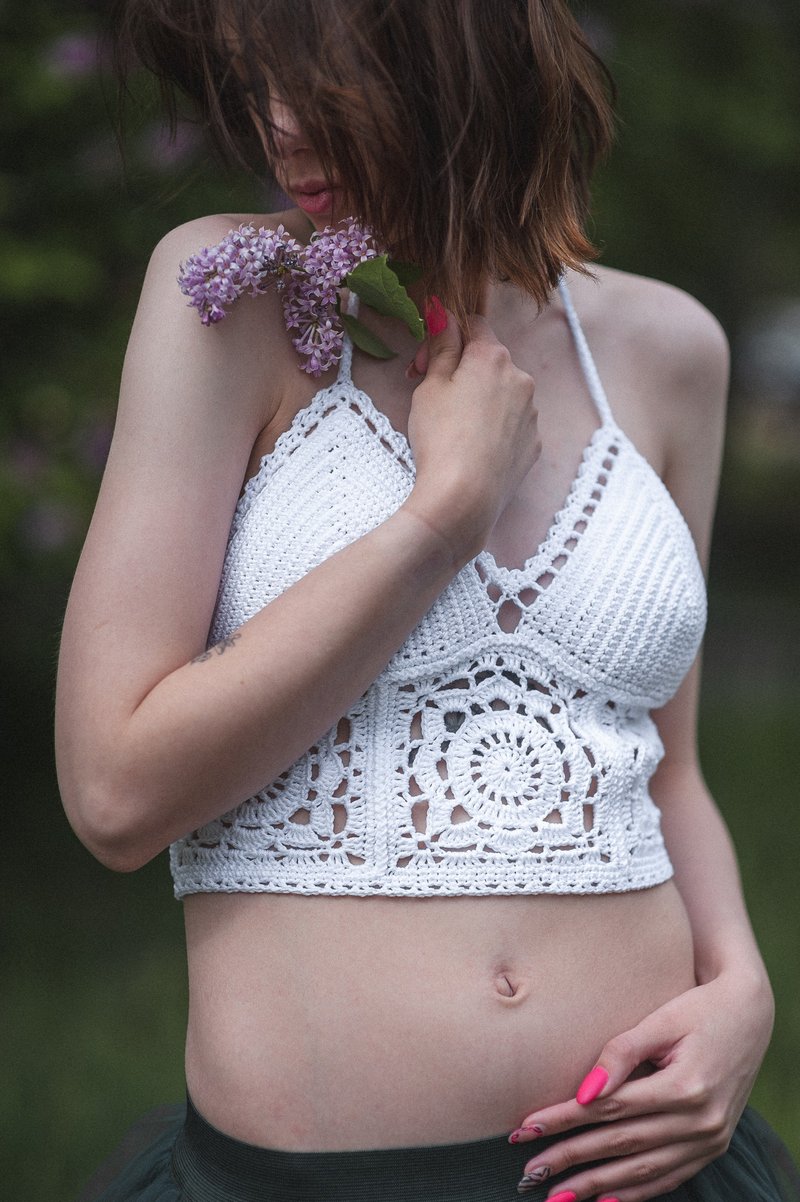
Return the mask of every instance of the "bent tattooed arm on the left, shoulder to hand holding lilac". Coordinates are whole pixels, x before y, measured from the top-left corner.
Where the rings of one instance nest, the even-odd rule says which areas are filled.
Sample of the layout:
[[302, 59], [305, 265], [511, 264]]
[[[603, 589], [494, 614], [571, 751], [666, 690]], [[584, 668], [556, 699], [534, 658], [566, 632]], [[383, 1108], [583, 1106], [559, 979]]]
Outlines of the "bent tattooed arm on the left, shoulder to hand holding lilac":
[[168, 236], [148, 270], [61, 642], [65, 809], [120, 870], [252, 796], [346, 713], [538, 453], [530, 377], [482, 319], [465, 347], [450, 322], [414, 392], [408, 500], [240, 626], [225, 654], [192, 662], [264, 424], [263, 381], [297, 370], [273, 294], [210, 331], [185, 305], [175, 268], [201, 225]]

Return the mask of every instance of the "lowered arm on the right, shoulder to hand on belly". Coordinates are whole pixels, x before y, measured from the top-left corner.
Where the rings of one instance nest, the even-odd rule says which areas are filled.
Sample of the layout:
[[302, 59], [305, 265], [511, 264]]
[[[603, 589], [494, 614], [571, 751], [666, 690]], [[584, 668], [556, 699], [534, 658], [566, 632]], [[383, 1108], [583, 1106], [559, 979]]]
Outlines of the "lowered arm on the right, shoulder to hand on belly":
[[[664, 480], [708, 564], [722, 458], [728, 355], [716, 322], [676, 302], [673, 338], [685, 353], [665, 377]], [[671, 346], [674, 352], [675, 347]], [[538, 1111], [523, 1126], [548, 1135], [602, 1124], [548, 1149], [551, 1173], [601, 1161], [556, 1191], [578, 1202], [646, 1202], [669, 1192], [726, 1152], [769, 1043], [772, 995], [756, 946], [726, 825], [699, 767], [695, 726], [699, 661], [655, 719], [664, 758], [651, 783], [692, 927], [697, 986], [658, 1007], [599, 1051], [593, 1100]], [[629, 1081], [640, 1065], [647, 1076]], [[591, 1065], [587, 1065], [591, 1069]], [[519, 1142], [529, 1136], [520, 1136]]]

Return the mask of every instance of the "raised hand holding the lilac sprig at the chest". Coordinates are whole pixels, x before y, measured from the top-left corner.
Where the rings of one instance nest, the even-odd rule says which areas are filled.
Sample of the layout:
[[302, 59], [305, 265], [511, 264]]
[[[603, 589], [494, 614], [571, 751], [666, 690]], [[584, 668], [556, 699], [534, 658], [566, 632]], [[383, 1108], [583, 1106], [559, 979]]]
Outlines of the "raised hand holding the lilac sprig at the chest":
[[424, 369], [425, 376], [408, 416], [417, 480], [406, 507], [466, 563], [542, 445], [531, 376], [514, 365], [485, 317], [470, 319], [464, 341], [453, 315], [446, 316], [447, 326], [414, 361], [417, 375]]

